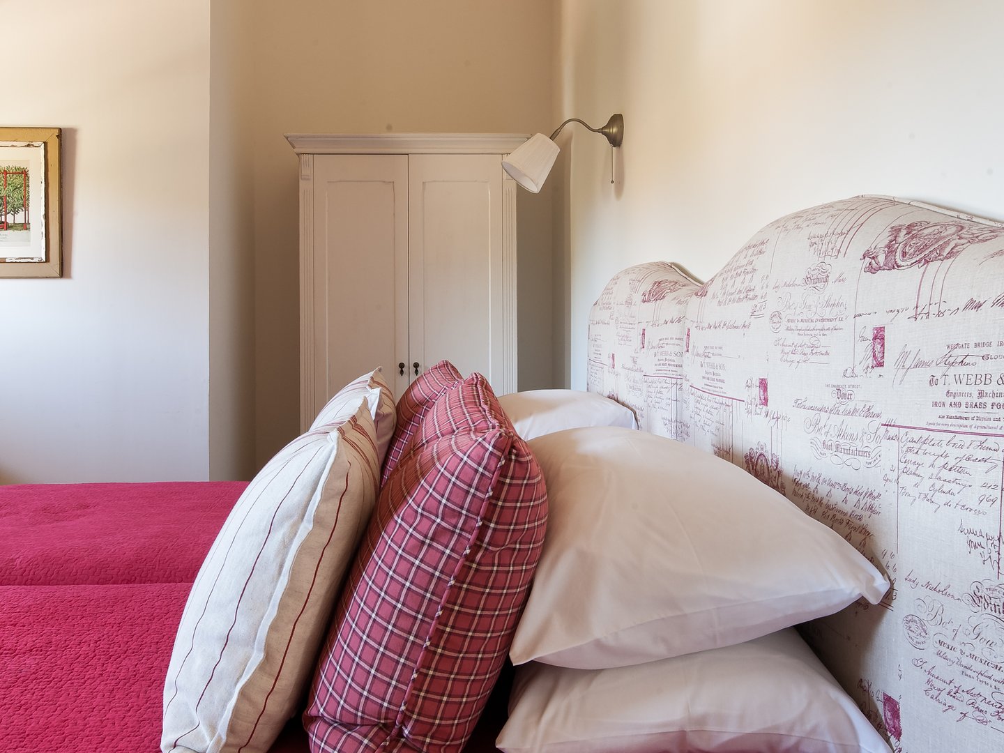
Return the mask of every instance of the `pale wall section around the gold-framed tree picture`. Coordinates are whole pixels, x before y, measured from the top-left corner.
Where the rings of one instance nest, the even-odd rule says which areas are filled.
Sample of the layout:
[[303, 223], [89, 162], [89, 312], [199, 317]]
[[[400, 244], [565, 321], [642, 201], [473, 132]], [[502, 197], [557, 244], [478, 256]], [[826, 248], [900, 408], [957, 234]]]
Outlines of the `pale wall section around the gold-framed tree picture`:
[[2, 124], [63, 129], [64, 253], [0, 279], [0, 483], [206, 478], [208, 2], [0, 16]]

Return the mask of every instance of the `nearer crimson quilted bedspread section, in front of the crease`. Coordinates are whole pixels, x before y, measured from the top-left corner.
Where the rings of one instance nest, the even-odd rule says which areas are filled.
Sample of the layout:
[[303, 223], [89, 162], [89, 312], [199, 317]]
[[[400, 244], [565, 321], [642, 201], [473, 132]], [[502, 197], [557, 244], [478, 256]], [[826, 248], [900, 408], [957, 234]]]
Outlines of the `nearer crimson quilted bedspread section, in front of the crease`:
[[189, 583], [0, 586], [0, 750], [157, 753]]

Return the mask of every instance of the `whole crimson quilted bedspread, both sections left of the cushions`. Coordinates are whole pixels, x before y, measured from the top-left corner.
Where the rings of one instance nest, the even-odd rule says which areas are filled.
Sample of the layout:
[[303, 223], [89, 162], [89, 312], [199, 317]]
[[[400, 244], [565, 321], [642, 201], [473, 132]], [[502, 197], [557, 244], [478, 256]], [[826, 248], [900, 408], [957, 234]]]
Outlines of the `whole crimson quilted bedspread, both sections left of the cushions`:
[[[175, 632], [245, 486], [0, 487], [0, 752], [160, 751]], [[270, 751], [307, 752], [297, 719]]]

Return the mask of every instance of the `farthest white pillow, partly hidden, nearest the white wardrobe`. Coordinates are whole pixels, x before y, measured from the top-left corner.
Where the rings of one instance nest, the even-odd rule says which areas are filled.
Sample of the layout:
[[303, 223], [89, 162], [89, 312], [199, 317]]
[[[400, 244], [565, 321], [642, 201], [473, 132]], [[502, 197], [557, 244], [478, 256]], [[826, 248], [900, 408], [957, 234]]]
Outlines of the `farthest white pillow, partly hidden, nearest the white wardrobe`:
[[577, 390], [530, 390], [499, 398], [513, 427], [530, 441], [563, 429], [622, 426], [638, 429], [635, 412], [597, 393]]

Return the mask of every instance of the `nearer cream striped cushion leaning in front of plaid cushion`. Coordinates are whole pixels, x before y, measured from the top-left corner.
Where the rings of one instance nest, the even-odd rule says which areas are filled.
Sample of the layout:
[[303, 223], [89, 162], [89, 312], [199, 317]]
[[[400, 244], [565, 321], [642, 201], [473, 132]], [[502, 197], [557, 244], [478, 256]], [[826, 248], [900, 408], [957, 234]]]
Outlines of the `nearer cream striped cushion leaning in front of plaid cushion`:
[[237, 501], [203, 562], [164, 689], [162, 750], [268, 750], [309, 683], [375, 502], [375, 427], [354, 415], [294, 440]]

